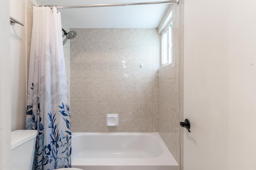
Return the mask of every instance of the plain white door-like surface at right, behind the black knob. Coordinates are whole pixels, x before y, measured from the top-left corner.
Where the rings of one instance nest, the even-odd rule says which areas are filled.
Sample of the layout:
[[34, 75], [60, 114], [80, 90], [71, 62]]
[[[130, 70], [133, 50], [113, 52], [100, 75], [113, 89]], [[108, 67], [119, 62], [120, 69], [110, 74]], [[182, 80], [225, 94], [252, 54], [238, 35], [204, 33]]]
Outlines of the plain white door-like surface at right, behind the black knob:
[[180, 5], [184, 170], [256, 170], [256, 2]]

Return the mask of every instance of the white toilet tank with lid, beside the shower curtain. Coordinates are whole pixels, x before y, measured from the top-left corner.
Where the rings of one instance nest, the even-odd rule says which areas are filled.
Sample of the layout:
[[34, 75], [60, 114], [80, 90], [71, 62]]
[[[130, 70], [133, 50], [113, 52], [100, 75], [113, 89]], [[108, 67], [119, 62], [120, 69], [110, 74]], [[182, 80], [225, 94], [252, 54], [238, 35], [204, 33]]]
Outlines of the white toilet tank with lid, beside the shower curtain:
[[36, 144], [36, 130], [17, 130], [11, 133], [12, 170], [31, 170]]

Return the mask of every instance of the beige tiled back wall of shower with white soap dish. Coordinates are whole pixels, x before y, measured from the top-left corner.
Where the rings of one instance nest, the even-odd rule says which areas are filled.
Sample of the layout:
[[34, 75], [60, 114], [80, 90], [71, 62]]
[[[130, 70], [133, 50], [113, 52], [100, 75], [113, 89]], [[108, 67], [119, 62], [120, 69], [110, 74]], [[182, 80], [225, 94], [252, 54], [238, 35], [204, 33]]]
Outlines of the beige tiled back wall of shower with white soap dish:
[[[71, 30], [72, 131], [156, 132], [157, 29]], [[119, 114], [118, 127], [106, 126], [107, 113]]]

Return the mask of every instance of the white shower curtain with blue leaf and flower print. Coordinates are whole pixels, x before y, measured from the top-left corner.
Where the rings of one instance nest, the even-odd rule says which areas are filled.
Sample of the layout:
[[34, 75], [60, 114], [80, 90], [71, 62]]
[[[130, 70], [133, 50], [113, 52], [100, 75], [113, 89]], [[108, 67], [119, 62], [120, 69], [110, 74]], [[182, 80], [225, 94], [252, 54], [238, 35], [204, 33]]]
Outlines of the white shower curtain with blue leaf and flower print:
[[71, 125], [60, 12], [34, 7], [26, 129], [36, 129], [33, 170], [71, 167]]

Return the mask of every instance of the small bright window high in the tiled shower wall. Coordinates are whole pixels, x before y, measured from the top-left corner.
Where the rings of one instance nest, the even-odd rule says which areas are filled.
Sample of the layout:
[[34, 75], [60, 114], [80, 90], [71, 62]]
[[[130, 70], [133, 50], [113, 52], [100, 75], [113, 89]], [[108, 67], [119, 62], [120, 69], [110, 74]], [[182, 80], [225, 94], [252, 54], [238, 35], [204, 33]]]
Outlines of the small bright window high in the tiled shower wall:
[[162, 66], [172, 63], [172, 24], [162, 33]]

